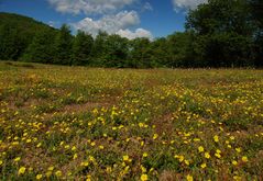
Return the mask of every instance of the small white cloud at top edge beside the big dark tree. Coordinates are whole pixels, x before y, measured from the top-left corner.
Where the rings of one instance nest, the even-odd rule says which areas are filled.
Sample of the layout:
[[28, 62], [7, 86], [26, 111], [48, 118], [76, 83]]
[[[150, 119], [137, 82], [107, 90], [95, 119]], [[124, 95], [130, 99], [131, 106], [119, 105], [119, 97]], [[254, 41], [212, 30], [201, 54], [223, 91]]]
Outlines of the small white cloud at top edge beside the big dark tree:
[[180, 9], [195, 9], [200, 3], [206, 2], [207, 0], [173, 0], [175, 11], [178, 11]]

